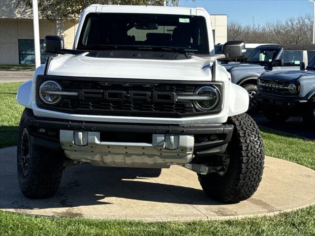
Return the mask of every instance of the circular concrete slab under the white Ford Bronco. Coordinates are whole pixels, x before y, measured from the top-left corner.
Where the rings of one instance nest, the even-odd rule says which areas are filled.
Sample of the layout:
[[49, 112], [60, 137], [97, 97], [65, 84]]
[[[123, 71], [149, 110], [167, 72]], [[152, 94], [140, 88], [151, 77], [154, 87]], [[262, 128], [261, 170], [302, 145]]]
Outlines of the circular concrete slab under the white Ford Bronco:
[[247, 201], [225, 205], [201, 190], [195, 173], [179, 166], [150, 178], [146, 169], [79, 165], [63, 172], [55, 197], [30, 200], [20, 192], [16, 148], [0, 149], [0, 210], [54, 217], [199, 220], [243, 217], [315, 204], [315, 171], [266, 157], [257, 192]]

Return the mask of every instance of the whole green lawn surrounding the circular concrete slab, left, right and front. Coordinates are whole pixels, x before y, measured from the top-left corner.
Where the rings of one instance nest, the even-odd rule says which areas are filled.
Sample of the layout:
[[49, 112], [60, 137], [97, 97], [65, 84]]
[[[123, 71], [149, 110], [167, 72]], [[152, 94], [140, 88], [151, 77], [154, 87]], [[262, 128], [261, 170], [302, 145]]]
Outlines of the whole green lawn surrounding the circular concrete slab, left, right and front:
[[[15, 101], [20, 83], [0, 84], [0, 147], [16, 145], [23, 108]], [[315, 169], [315, 142], [261, 127], [266, 155]], [[1, 157], [0, 157], [1, 158]], [[275, 216], [239, 220], [154, 222], [52, 219], [0, 211], [0, 236], [6, 235], [315, 235], [315, 206]]]

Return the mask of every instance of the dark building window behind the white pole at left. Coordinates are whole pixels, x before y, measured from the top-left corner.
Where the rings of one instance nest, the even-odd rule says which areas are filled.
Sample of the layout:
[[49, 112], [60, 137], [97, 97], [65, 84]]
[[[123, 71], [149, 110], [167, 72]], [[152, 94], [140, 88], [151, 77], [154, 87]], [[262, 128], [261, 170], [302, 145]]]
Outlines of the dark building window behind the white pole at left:
[[[40, 62], [43, 64], [46, 62], [50, 53], [45, 52], [44, 40], [40, 39]], [[19, 64], [35, 64], [35, 52], [34, 52], [34, 40], [33, 39], [19, 39]]]

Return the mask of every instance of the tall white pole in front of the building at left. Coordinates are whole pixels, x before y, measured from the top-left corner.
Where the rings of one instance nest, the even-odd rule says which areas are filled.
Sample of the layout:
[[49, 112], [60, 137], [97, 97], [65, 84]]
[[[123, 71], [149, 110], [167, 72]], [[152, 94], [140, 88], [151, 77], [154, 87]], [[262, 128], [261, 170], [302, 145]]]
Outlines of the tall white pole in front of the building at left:
[[40, 43], [39, 43], [39, 23], [38, 23], [38, 0], [32, 0], [33, 6], [33, 29], [34, 29], [34, 49], [35, 67], [40, 66]]

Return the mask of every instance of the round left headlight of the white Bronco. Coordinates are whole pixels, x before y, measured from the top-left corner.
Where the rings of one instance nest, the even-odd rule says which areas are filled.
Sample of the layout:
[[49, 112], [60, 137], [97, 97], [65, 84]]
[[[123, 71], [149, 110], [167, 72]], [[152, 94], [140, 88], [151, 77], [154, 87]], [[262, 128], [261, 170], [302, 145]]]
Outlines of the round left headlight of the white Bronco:
[[61, 91], [61, 86], [55, 81], [45, 81], [38, 88], [38, 95], [40, 99], [46, 104], [58, 103], [62, 96], [54, 94], [54, 92]]

